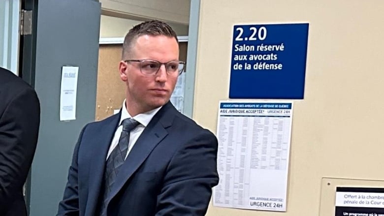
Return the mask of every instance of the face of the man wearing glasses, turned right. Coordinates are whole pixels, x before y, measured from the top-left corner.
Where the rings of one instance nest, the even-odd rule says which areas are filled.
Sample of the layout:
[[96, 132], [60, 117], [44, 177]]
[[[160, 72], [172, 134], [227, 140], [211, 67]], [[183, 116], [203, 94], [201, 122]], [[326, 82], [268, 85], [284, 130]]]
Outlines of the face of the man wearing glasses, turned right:
[[[133, 43], [130, 60], [179, 60], [179, 45], [168, 36], [142, 35]], [[127, 60], [127, 59], [125, 59]], [[154, 76], [140, 72], [140, 62], [120, 62], [120, 77], [127, 84], [127, 109], [130, 115], [158, 108], [169, 101], [177, 77], [169, 76], [161, 65]]]

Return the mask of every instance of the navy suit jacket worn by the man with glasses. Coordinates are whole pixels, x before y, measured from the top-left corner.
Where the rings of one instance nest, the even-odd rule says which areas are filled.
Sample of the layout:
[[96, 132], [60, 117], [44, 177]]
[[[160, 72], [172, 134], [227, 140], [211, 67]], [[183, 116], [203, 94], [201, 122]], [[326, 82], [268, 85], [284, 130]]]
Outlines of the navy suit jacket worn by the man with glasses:
[[[58, 216], [99, 214], [105, 160], [121, 114], [89, 123], [76, 144]], [[218, 184], [216, 137], [168, 102], [144, 129], [113, 186], [108, 216], [203, 216]]]

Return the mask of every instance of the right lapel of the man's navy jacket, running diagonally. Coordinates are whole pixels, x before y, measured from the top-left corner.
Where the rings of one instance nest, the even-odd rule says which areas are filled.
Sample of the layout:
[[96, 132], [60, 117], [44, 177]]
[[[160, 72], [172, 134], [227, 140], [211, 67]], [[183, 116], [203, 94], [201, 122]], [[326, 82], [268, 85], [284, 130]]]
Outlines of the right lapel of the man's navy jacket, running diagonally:
[[151, 154], [152, 150], [168, 134], [165, 128], [172, 124], [174, 117], [174, 114], [171, 115], [173, 111], [172, 108], [178, 112], [170, 102], [165, 104], [141, 133], [117, 175], [112, 192], [110, 193], [110, 200], [119, 192], [132, 174], [145, 161], [148, 155]]

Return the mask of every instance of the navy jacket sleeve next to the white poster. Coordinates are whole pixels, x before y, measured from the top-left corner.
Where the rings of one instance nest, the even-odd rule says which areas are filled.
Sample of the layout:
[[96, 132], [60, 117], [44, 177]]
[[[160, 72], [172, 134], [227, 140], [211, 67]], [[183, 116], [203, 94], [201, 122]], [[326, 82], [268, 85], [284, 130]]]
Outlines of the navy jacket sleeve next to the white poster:
[[204, 216], [217, 185], [218, 141], [201, 130], [173, 156], [158, 196], [156, 216]]

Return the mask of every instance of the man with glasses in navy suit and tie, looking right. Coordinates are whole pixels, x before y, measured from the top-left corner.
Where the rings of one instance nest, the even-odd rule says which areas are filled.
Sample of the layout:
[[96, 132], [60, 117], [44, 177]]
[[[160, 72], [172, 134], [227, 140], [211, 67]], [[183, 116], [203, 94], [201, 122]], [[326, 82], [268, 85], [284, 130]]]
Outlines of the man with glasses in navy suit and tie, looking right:
[[81, 131], [58, 216], [205, 215], [219, 181], [218, 142], [169, 102], [184, 66], [167, 24], [128, 32], [119, 64], [126, 100]]

